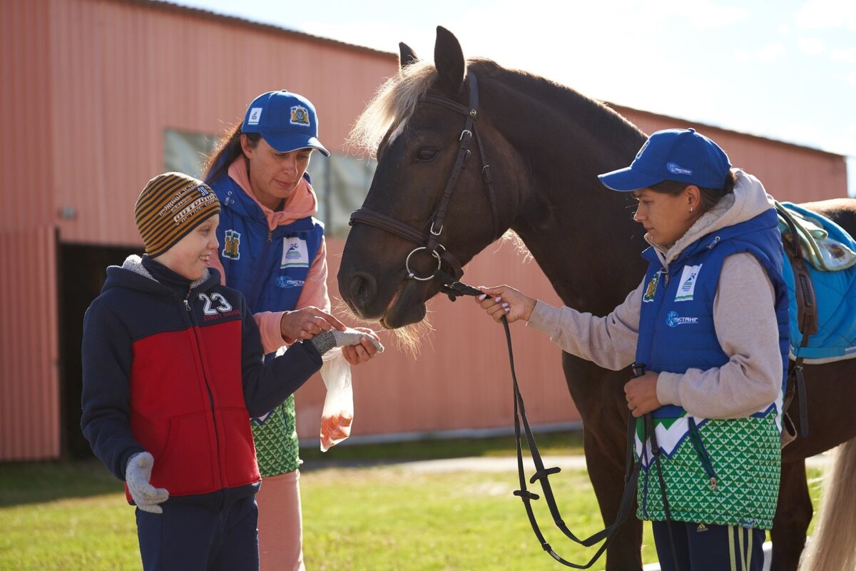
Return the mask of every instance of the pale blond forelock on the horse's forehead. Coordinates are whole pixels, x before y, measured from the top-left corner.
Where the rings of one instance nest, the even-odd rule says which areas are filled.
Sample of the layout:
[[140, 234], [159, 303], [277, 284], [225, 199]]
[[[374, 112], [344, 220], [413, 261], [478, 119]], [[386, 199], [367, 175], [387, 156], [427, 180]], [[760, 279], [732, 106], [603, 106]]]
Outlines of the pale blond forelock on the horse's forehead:
[[390, 139], [401, 133], [419, 99], [436, 81], [437, 68], [431, 61], [413, 62], [384, 81], [357, 117], [348, 135], [348, 144], [373, 155], [390, 128], [394, 128]]

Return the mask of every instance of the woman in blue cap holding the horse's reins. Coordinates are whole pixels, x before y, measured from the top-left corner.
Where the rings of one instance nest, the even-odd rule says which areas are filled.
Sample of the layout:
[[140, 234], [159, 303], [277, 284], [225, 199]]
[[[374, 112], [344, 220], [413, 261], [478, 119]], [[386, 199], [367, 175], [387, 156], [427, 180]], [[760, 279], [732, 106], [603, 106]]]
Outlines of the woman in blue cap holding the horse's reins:
[[760, 571], [788, 363], [773, 199], [694, 129], [652, 134], [633, 164], [599, 178], [639, 201], [633, 219], [651, 244], [639, 287], [606, 317], [508, 286], [477, 302], [599, 366], [644, 370], [624, 390], [634, 417], [653, 417], [658, 461], [637, 430], [637, 515], [652, 521], [664, 571]]

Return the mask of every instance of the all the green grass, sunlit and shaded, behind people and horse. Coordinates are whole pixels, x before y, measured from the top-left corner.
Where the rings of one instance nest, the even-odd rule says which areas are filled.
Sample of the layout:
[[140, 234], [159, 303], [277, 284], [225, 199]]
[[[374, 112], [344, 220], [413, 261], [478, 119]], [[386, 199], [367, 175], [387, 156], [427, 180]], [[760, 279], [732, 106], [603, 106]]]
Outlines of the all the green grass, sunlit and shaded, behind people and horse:
[[[539, 446], [555, 450], [548, 457], [573, 450], [562, 442], [567, 438], [556, 435], [555, 445], [550, 438], [538, 437]], [[499, 438], [337, 446], [318, 457], [373, 464], [513, 453], [513, 439]], [[312, 452], [306, 450], [306, 456]], [[307, 459], [306, 466], [313, 463], [318, 462]], [[819, 473], [810, 475], [817, 505]], [[603, 523], [586, 473], [563, 470], [551, 482], [568, 527], [578, 537], [599, 531]], [[520, 500], [512, 496], [514, 472], [420, 473], [396, 464], [321, 467], [306, 470], [300, 487], [306, 565], [314, 571], [562, 568], [540, 548]], [[556, 531], [543, 502], [535, 505], [556, 551], [587, 562], [596, 549], [574, 547]], [[0, 464], [0, 529], [0, 569], [140, 568], [134, 510], [125, 503], [121, 483], [97, 461]], [[652, 562], [647, 525], [644, 541], [645, 562]], [[594, 568], [603, 568], [603, 560]]]

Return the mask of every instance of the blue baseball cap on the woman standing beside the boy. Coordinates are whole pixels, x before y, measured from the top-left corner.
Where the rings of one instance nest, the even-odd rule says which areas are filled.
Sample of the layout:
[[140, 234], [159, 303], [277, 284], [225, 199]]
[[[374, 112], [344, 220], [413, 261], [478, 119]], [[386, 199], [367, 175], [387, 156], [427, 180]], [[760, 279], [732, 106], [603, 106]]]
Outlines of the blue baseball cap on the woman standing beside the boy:
[[312, 101], [288, 92], [262, 93], [247, 107], [241, 133], [258, 133], [278, 152], [318, 149], [330, 152], [318, 140], [318, 115]]

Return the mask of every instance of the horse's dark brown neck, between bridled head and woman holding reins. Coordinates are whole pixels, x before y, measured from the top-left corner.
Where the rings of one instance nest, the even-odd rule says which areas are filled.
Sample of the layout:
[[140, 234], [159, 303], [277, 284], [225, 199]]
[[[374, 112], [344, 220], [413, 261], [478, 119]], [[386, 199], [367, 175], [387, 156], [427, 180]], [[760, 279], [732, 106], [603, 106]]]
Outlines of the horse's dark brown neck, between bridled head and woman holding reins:
[[645, 137], [570, 90], [545, 86], [551, 92], [533, 102], [544, 84], [525, 79], [536, 85], [509, 89], [502, 105], [505, 116], [528, 110], [526, 120], [497, 126], [532, 179], [512, 229], [566, 304], [609, 312], [642, 278], [645, 242], [632, 220], [633, 198], [607, 190], [597, 175], [627, 166]]

